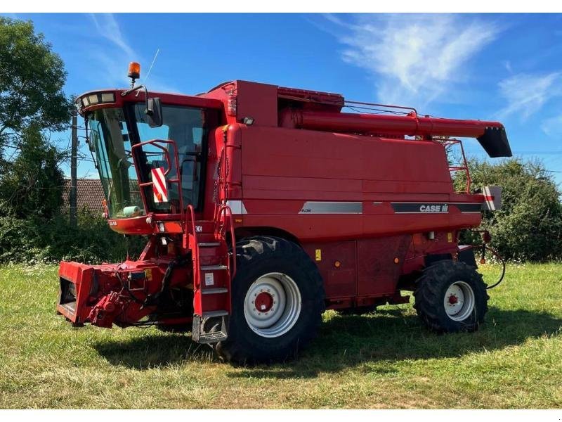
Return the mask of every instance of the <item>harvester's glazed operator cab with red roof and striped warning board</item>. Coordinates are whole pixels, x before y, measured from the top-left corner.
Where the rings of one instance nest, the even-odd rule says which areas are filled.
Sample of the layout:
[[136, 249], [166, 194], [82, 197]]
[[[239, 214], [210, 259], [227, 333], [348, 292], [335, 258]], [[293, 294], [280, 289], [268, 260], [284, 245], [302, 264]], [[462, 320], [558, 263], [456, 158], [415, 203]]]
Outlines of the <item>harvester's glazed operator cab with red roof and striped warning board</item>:
[[[141, 86], [142, 87], [142, 86]], [[89, 148], [105, 192], [105, 217], [123, 231], [126, 219], [202, 211], [209, 134], [221, 122], [221, 101], [110, 89], [77, 98], [86, 120]], [[161, 108], [161, 110], [160, 110]], [[179, 174], [178, 174], [179, 173]], [[143, 219], [146, 219], [143, 217]], [[120, 227], [117, 227], [120, 226]]]

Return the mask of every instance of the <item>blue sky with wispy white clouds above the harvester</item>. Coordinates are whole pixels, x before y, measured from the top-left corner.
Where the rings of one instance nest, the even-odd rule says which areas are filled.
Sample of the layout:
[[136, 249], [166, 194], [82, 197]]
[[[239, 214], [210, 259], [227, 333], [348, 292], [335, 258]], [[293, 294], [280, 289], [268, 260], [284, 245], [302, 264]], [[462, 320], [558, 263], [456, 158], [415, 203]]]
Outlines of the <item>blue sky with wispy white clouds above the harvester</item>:
[[[129, 61], [140, 61], [146, 75], [159, 49], [149, 89], [196, 94], [249, 79], [440, 117], [499, 120], [515, 155], [562, 172], [561, 14], [11, 17], [33, 20], [53, 44], [69, 94], [126, 87]], [[68, 138], [53, 134], [65, 145]], [[465, 148], [484, 156], [475, 140]], [[562, 182], [562, 173], [553, 174]], [[79, 175], [96, 177], [86, 161]]]

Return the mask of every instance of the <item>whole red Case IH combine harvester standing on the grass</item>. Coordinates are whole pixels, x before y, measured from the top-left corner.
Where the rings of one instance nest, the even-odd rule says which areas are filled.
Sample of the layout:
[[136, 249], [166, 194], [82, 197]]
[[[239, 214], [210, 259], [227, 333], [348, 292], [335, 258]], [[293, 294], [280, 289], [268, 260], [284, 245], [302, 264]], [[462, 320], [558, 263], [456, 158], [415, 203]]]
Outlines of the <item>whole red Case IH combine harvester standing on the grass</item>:
[[509, 157], [502, 124], [246, 81], [149, 94], [136, 63], [129, 77], [131, 89], [76, 103], [107, 222], [148, 243], [136, 261], [61, 262], [57, 309], [72, 324], [191, 331], [223, 359], [256, 362], [294, 355], [325, 309], [408, 302], [401, 290], [435, 331], [483, 321], [486, 285], [459, 231], [501, 188], [473, 193], [464, 153], [451, 167], [446, 152], [473, 137]]

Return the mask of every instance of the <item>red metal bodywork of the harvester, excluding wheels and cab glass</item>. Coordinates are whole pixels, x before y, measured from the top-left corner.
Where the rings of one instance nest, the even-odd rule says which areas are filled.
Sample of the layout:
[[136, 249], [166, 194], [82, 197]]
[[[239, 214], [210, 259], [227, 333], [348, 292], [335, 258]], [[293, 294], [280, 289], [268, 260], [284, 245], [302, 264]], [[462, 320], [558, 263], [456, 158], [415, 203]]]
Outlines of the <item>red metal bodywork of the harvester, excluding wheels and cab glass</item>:
[[[126, 96], [121, 96], [121, 90], [93, 92], [107, 91], [115, 93], [114, 103], [83, 107], [80, 113], [145, 101], [143, 92]], [[74, 314], [68, 307], [58, 307], [72, 321], [82, 323], [92, 317], [100, 326], [113, 322], [126, 326], [147, 314], [165, 324], [188, 321], [160, 317], [150, 303], [131, 305], [134, 301], [127, 298], [119, 280], [145, 271], [145, 291], [136, 292], [143, 293], [145, 300], [162, 288], [166, 268], [189, 252], [192, 266], [174, 269], [166, 282], [194, 289], [197, 316], [211, 308], [230, 312], [230, 281], [237, 273], [236, 239], [254, 235], [282, 236], [299, 243], [325, 282], [327, 308], [403, 301], [400, 288], [424, 269], [426, 258], [456, 259], [459, 231], [481, 222], [484, 198], [471, 194], [462, 143], [443, 136], [481, 141], [489, 131], [504, 131], [499, 122], [421, 117], [414, 108], [345, 101], [339, 94], [245, 81], [228, 82], [198, 96], [152, 96], [164, 104], [221, 110], [220, 125], [209, 134], [202, 211], [195, 212], [192, 205], [183, 208], [178, 148], [173, 140], [153, 139], [133, 146], [133, 151], [148, 144], [165, 151], [166, 175], [176, 166], [177, 177], [168, 181], [178, 184], [180, 210], [109, 220], [112, 229], [121, 233], [151, 236], [138, 261], [105, 266], [61, 264], [61, 277], [77, 286]], [[341, 113], [342, 107], [353, 104], [411, 113]], [[247, 117], [253, 124], [244, 124], [250, 121]], [[463, 165], [450, 166], [445, 146], [457, 143]], [[490, 139], [485, 143], [489, 146]], [[163, 144], [173, 146], [173, 160]], [[133, 162], [148, 210], [145, 188], [152, 181], [141, 181], [135, 153]], [[451, 183], [451, 172], [458, 171], [466, 172], [462, 193], [455, 192]], [[156, 221], [165, 224], [165, 233], [159, 232]], [[200, 250], [199, 242], [211, 247]], [[226, 279], [213, 269], [218, 261], [228, 267]], [[222, 264], [218, 267], [224, 269]], [[93, 291], [93, 275], [99, 281], [98, 291]], [[203, 297], [202, 290], [208, 287], [203, 276], [228, 288], [226, 302], [212, 291]], [[116, 292], [121, 294], [117, 299], [112, 296]], [[119, 300], [129, 300], [129, 305], [119, 305]], [[103, 312], [116, 306], [132, 310], [103, 319]]]

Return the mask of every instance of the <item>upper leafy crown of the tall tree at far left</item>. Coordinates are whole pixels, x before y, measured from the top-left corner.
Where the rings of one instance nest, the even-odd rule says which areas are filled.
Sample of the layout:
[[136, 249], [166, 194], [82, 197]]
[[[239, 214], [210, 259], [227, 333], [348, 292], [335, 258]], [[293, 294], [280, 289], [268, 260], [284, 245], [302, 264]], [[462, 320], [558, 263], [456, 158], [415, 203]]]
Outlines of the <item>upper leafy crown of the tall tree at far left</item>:
[[41, 130], [68, 126], [65, 80], [63, 60], [43, 34], [35, 34], [33, 23], [0, 16], [0, 153], [18, 148], [32, 123]]

